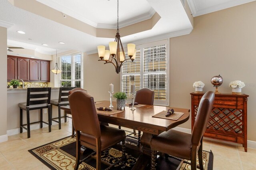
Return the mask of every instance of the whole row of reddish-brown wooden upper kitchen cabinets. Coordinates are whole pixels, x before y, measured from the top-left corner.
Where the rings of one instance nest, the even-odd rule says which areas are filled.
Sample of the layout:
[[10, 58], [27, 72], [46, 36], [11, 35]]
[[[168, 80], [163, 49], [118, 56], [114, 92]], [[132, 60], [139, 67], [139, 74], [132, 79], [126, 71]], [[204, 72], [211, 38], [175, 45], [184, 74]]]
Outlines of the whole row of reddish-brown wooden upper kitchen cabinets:
[[7, 56], [7, 81], [50, 82], [50, 61]]

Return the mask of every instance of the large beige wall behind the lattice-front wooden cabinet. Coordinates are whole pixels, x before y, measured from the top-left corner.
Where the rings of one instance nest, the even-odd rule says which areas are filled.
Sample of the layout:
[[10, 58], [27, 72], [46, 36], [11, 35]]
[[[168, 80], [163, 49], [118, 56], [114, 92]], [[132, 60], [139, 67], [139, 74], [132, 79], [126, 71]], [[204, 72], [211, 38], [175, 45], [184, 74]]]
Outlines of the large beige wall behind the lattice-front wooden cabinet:
[[[191, 34], [170, 39], [170, 106], [191, 108], [194, 81], [214, 91], [214, 75], [224, 79], [221, 93], [231, 93], [230, 81], [246, 83], [248, 140], [256, 141], [256, 2], [194, 18]], [[180, 127], [190, 128], [191, 121]]]

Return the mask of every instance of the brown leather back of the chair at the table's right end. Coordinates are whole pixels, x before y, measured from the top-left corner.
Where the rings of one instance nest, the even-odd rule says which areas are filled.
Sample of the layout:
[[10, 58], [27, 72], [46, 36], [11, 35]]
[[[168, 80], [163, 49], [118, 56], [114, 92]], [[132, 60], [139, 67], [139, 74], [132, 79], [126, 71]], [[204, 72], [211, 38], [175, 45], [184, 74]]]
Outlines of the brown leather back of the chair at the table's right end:
[[208, 91], [203, 95], [202, 99], [200, 100], [198, 112], [196, 114], [196, 120], [192, 130], [192, 144], [196, 144], [198, 146], [202, 136], [204, 135], [210, 118], [210, 113], [212, 111], [214, 98], [214, 92]]

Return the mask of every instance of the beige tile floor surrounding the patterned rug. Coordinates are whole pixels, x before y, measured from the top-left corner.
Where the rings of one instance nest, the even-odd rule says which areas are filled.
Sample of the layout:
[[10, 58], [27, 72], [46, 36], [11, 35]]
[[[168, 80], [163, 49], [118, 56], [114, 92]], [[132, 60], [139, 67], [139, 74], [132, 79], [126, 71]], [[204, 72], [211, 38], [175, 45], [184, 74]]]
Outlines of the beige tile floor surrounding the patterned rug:
[[[0, 170], [48, 170], [42, 162], [32, 156], [28, 150], [37, 146], [71, 135], [70, 123], [52, 126], [31, 131], [31, 138], [27, 133], [8, 136], [8, 141], [0, 143]], [[256, 149], [244, 148], [234, 144], [204, 139], [204, 150], [212, 150], [214, 154], [214, 170], [256, 170]]]

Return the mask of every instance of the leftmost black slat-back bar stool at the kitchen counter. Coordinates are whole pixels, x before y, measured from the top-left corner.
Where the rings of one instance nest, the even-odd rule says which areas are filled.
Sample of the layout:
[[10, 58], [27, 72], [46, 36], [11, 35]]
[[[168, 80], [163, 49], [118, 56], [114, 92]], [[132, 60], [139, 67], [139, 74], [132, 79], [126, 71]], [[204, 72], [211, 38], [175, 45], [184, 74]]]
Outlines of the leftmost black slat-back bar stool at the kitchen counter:
[[[27, 102], [19, 103], [20, 107], [20, 133], [23, 128], [28, 131], [28, 138], [30, 138], [30, 124], [40, 123], [40, 128], [43, 127], [43, 123], [48, 125], [49, 132], [51, 132], [50, 125], [50, 100], [51, 100], [51, 87], [38, 87], [27, 89]], [[48, 123], [43, 121], [43, 109], [48, 109]], [[30, 111], [40, 109], [40, 121], [30, 123]], [[23, 124], [23, 110], [26, 111], [27, 124]], [[26, 126], [27, 127], [24, 127]]]

